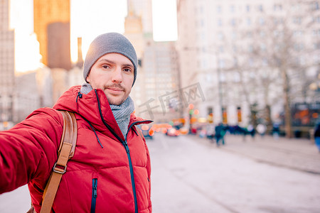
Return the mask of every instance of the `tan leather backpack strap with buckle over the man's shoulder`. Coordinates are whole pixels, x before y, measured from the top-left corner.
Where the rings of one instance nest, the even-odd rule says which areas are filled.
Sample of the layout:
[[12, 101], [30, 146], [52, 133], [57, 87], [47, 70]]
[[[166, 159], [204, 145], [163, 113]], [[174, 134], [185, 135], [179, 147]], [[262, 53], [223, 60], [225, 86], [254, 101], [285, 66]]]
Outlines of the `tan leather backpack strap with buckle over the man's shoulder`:
[[62, 175], [67, 170], [67, 162], [75, 153], [77, 143], [77, 121], [70, 111], [60, 111], [63, 114], [63, 135], [61, 136], [58, 160], [53, 166], [53, 172], [43, 192], [41, 213], [50, 213], [55, 194], [57, 193]]

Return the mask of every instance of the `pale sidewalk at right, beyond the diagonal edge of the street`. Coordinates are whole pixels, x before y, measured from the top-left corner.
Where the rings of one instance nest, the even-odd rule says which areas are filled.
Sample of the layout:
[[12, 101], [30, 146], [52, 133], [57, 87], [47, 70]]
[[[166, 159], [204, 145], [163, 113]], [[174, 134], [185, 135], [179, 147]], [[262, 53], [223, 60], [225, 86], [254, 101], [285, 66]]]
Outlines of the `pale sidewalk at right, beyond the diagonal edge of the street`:
[[215, 141], [198, 136], [190, 136], [210, 148], [243, 155], [261, 163], [300, 170], [320, 175], [320, 153], [313, 141], [304, 138], [279, 138], [272, 136], [255, 138], [246, 136], [226, 135], [225, 146], [217, 147]]

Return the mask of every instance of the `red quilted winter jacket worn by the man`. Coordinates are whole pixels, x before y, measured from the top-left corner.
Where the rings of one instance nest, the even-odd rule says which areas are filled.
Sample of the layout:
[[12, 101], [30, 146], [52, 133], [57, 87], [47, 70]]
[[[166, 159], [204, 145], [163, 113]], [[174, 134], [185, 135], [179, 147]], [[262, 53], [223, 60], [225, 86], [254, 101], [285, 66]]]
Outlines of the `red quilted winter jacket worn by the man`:
[[62, 109], [75, 112], [78, 140], [53, 211], [151, 212], [149, 151], [135, 127], [151, 121], [132, 114], [126, 141], [104, 92], [79, 92], [80, 86], [71, 87], [54, 109], [33, 111], [9, 131], [0, 132], [0, 193], [28, 183], [33, 206], [40, 212], [63, 131], [63, 117], [55, 109]]

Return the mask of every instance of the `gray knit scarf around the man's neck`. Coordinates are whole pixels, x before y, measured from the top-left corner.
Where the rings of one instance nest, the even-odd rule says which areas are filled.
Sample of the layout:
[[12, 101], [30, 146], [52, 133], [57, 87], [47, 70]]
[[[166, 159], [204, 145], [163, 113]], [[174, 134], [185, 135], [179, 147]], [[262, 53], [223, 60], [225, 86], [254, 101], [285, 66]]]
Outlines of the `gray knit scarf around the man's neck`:
[[[85, 83], [82, 84], [80, 92], [82, 94], [88, 94], [91, 90], [91, 85]], [[120, 105], [110, 104], [110, 108], [124, 138], [126, 138], [130, 121], [130, 114], [132, 114], [132, 112], [134, 111], [134, 102], [132, 101], [131, 97], [127, 97], [127, 99], [125, 99], [124, 102]]]

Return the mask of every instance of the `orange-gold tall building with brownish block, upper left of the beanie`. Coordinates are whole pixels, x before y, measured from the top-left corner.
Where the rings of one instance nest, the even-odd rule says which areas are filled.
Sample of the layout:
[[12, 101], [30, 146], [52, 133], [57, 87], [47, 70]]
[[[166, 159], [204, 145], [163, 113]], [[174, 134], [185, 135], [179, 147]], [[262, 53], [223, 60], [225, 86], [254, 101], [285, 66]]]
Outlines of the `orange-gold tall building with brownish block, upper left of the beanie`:
[[33, 20], [43, 64], [70, 70], [70, 1], [34, 0]]

